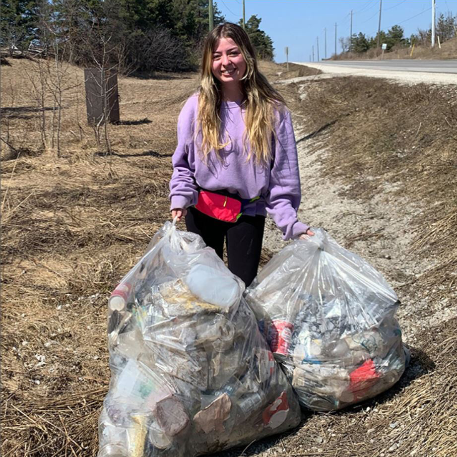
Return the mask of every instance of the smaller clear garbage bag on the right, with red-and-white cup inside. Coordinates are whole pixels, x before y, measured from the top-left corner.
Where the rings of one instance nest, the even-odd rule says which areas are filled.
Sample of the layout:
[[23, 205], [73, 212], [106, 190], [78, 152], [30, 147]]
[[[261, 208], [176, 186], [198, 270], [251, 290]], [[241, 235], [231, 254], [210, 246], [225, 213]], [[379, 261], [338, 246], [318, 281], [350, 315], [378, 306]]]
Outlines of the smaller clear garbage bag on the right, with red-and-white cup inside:
[[407, 350], [399, 301], [381, 273], [313, 231], [275, 255], [245, 298], [300, 403], [329, 411], [391, 387]]

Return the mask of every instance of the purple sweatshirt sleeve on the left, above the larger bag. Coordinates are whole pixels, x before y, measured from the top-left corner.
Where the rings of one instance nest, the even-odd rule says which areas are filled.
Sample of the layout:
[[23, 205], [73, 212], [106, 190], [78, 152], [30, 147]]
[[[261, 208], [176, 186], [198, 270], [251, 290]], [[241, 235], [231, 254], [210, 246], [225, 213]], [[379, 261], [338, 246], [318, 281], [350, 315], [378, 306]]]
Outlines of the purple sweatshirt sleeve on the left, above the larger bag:
[[172, 157], [173, 174], [170, 180], [170, 209], [187, 208], [196, 204], [198, 198], [194, 178], [194, 129], [197, 100], [197, 95], [190, 97], [178, 117], [178, 145]]

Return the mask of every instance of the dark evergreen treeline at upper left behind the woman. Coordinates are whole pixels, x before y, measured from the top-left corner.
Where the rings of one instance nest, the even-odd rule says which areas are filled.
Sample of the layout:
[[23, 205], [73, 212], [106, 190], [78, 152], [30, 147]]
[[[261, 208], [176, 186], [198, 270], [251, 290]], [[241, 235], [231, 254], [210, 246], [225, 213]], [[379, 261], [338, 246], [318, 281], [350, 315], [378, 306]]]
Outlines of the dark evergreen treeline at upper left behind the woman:
[[[3, 0], [1, 46], [43, 49], [76, 65], [121, 72], [195, 69], [208, 32], [208, 0]], [[214, 25], [225, 17], [213, 7]], [[252, 16], [246, 31], [259, 56], [273, 43]]]

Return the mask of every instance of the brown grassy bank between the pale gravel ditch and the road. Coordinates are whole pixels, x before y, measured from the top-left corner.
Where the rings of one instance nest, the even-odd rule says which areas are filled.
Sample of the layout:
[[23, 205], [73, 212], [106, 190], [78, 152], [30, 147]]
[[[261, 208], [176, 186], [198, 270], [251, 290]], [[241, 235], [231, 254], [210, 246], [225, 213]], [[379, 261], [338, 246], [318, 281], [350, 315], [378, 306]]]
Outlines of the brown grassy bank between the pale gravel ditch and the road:
[[426, 207], [412, 227], [411, 250], [439, 259], [424, 278], [430, 288], [444, 286], [443, 295], [454, 290], [457, 89], [333, 78], [310, 85], [305, 103], [310, 127], [329, 133], [334, 152], [325, 167], [347, 184], [347, 196], [369, 200], [391, 183], [398, 196]]

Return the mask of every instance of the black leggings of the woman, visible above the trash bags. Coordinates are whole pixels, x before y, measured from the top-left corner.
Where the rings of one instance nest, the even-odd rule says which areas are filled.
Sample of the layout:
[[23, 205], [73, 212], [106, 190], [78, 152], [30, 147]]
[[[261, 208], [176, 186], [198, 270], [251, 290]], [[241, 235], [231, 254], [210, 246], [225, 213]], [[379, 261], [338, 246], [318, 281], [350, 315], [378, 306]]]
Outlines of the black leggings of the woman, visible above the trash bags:
[[249, 286], [257, 276], [262, 250], [265, 216], [241, 216], [237, 222], [223, 222], [188, 208], [186, 227], [197, 233], [222, 259], [224, 240], [229, 270]]

